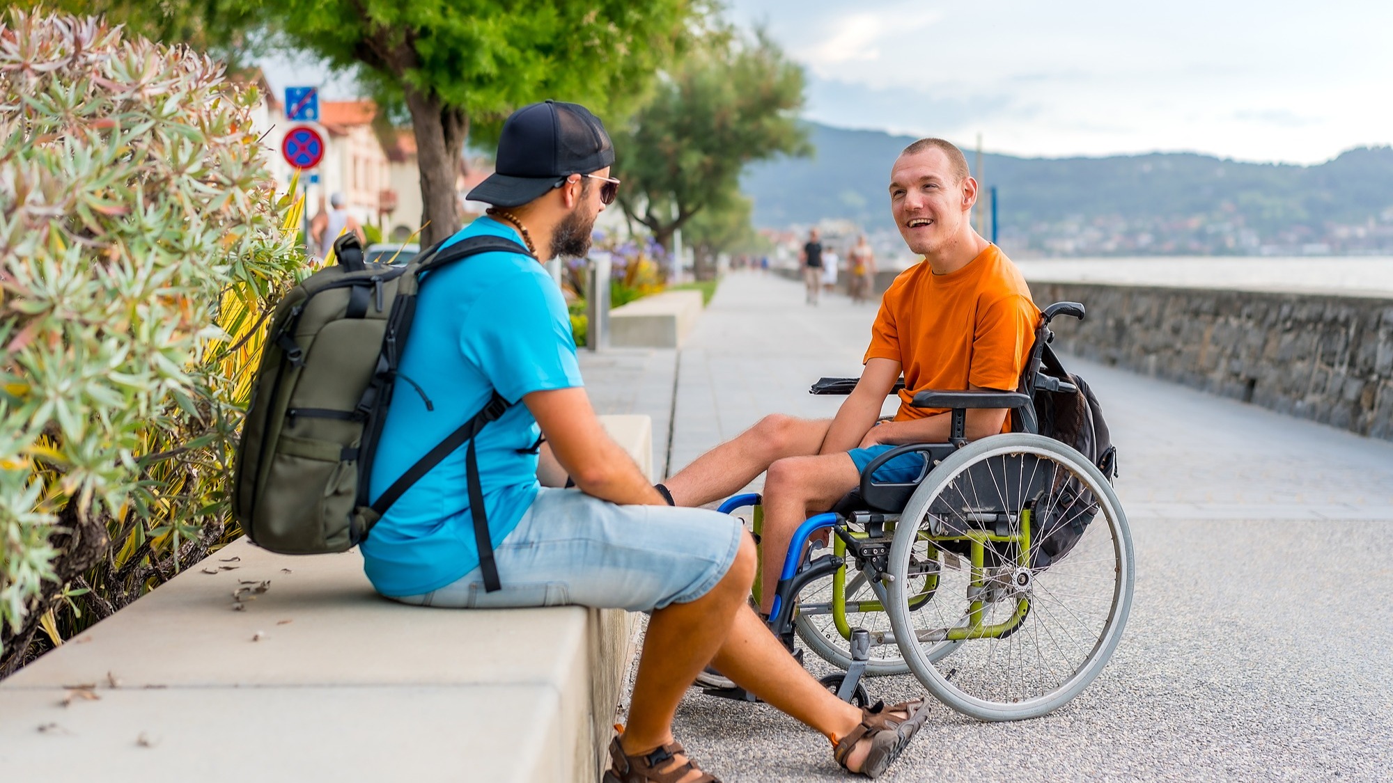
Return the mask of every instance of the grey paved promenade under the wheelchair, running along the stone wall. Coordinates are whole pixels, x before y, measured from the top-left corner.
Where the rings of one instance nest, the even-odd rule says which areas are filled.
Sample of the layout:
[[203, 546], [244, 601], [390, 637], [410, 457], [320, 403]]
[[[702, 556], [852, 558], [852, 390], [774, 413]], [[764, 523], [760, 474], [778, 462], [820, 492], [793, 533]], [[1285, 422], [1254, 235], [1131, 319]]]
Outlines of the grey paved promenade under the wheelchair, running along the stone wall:
[[[670, 468], [769, 412], [832, 415], [840, 400], [808, 385], [859, 372], [873, 315], [836, 295], [808, 307], [773, 276], [727, 277], [676, 361]], [[1393, 443], [1068, 366], [1121, 453], [1137, 550], [1126, 637], [1043, 719], [976, 723], [936, 705], [885, 779], [1393, 779]], [[869, 688], [922, 692], [911, 677]], [[846, 779], [823, 737], [765, 705], [694, 690], [677, 718], [727, 783]]]

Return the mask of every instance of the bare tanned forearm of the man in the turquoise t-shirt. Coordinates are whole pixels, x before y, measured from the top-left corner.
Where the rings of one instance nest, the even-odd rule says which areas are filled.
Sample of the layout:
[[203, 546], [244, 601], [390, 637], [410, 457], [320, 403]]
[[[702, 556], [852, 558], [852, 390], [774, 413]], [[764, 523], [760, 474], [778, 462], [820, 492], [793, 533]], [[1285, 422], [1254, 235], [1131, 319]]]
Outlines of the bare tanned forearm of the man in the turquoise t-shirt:
[[612, 503], [666, 506], [663, 496], [618, 443], [600, 426], [585, 389], [534, 392], [522, 397], [552, 456], [575, 486]]

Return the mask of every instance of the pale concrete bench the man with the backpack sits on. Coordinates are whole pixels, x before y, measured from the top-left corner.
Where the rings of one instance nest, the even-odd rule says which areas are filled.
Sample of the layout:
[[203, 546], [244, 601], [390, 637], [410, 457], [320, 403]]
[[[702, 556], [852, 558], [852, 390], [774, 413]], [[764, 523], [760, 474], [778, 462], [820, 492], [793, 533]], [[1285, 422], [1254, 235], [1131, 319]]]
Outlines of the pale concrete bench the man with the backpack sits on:
[[[603, 421], [651, 475], [648, 417]], [[632, 628], [578, 606], [404, 606], [372, 591], [357, 552], [287, 557], [242, 538], [0, 683], [0, 769], [589, 783]]]

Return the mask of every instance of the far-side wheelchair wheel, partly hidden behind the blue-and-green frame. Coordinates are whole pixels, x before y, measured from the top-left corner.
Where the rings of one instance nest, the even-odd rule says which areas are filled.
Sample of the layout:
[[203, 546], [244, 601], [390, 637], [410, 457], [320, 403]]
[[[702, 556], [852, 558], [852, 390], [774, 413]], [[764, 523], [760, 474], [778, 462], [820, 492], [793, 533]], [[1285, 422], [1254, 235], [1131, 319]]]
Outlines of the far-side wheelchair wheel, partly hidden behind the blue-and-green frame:
[[[826, 550], [820, 550], [826, 552]], [[933, 605], [937, 592], [937, 552], [928, 542], [915, 546], [914, 564], [915, 574], [910, 577], [911, 609]], [[798, 613], [794, 616], [794, 630], [798, 638], [815, 652], [818, 658], [832, 663], [839, 669], [851, 666], [851, 644], [837, 628], [832, 610], [833, 577], [818, 580], [802, 588], [798, 594]], [[865, 573], [857, 570], [855, 563], [848, 563], [846, 568], [846, 620], [850, 628], [865, 628], [871, 631], [871, 660], [866, 662], [868, 677], [885, 677], [907, 674], [908, 665], [900, 648], [894, 644], [894, 634], [890, 630], [890, 616], [883, 609], [880, 596], [866, 580]], [[858, 610], [862, 605], [879, 605], [865, 612]], [[915, 624], [928, 627], [924, 623], [929, 617], [936, 617], [937, 612], [925, 610], [917, 616]], [[944, 641], [926, 651], [933, 660], [947, 655], [958, 642]]]

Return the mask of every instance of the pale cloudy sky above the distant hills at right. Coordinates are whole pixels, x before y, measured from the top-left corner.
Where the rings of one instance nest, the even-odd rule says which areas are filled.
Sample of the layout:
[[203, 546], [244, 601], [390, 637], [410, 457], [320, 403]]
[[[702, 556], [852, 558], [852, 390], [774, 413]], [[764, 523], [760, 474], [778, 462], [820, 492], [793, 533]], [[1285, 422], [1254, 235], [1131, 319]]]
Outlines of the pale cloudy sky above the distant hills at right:
[[1014, 155], [1318, 163], [1393, 144], [1393, 3], [731, 0], [807, 116]]

